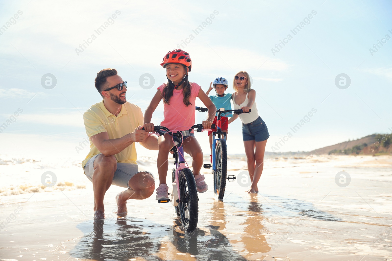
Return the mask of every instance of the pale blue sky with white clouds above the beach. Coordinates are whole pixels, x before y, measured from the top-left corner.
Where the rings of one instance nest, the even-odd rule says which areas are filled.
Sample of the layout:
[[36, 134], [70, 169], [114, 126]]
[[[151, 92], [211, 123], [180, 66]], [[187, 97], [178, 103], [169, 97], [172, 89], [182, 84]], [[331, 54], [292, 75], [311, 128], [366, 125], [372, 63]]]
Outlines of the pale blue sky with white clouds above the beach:
[[[235, 74], [250, 74], [270, 133], [266, 151], [311, 151], [392, 132], [390, 1], [25, 0], [0, 5], [0, 125], [7, 124], [0, 133], [0, 154], [83, 159], [88, 149], [75, 149], [87, 138], [82, 114], [102, 100], [94, 88], [96, 73], [116, 68], [128, 82], [127, 100], [144, 112], [166, 81], [163, 56], [179, 47], [192, 58], [190, 81], [204, 91], [216, 77], [226, 77], [231, 93]], [[46, 74], [54, 76], [51, 82]], [[140, 85], [144, 74], [154, 85]], [[196, 106], [203, 104], [197, 100]], [[196, 112], [196, 122], [205, 117]], [[159, 124], [162, 118], [160, 104], [152, 121]], [[209, 154], [207, 134], [196, 137]], [[244, 153], [241, 139], [238, 119], [229, 126], [229, 154]], [[279, 145], [281, 139], [286, 141]]]

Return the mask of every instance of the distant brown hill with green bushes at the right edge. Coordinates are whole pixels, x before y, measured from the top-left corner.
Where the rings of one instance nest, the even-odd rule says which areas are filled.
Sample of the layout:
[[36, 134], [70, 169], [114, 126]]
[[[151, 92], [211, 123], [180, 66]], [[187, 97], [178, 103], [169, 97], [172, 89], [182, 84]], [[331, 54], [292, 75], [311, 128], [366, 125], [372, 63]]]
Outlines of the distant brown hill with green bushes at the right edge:
[[335, 145], [310, 151], [317, 154], [390, 154], [392, 153], [392, 135], [374, 133], [356, 140], [348, 140]]

